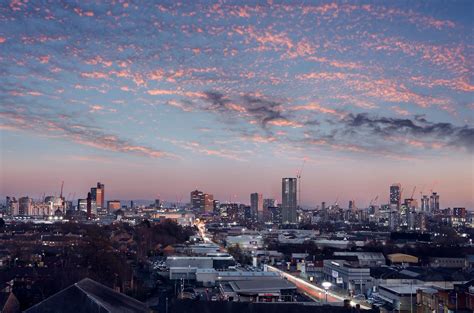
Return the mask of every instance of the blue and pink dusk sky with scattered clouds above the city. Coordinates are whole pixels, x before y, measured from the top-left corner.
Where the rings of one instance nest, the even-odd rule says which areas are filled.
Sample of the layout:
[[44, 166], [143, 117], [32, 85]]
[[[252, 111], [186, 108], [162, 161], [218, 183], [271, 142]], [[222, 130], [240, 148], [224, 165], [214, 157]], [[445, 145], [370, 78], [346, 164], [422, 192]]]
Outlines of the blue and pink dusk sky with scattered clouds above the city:
[[[474, 207], [472, 1], [1, 1], [0, 195]], [[416, 190], [414, 191], [414, 187]]]

